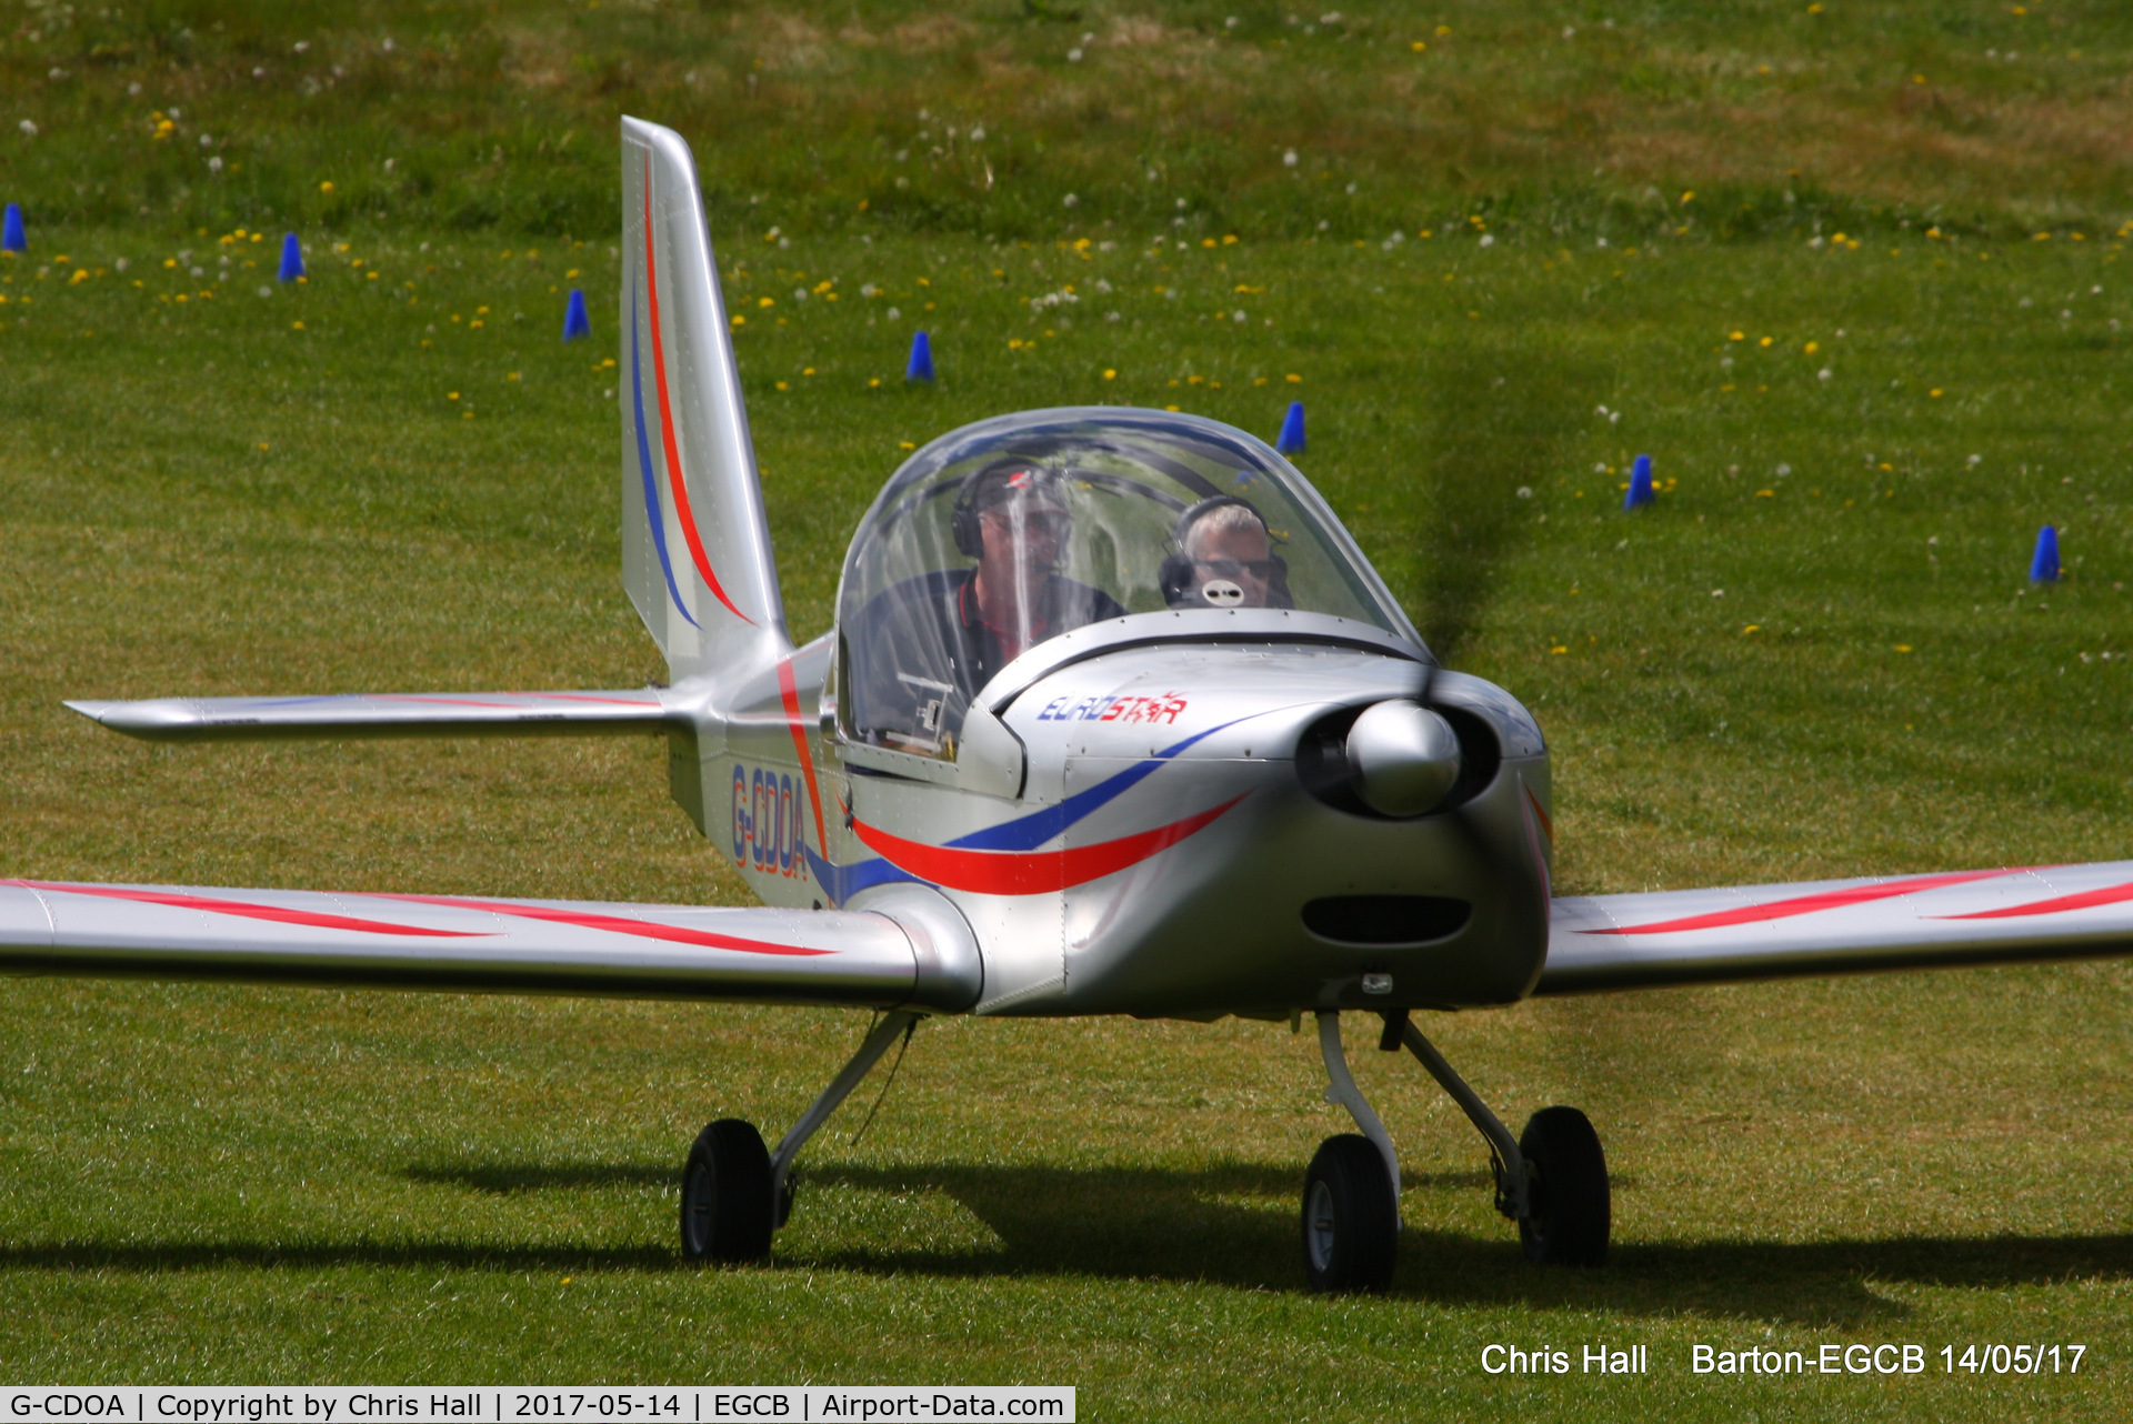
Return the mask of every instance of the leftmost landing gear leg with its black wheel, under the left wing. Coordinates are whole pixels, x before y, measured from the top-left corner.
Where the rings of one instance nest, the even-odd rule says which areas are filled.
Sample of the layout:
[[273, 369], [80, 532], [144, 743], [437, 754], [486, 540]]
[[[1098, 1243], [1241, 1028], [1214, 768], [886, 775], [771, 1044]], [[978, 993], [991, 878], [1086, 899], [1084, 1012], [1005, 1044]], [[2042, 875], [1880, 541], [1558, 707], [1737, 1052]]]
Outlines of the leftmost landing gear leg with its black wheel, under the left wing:
[[680, 1253], [689, 1262], [742, 1266], [770, 1260], [770, 1236], [793, 1209], [793, 1158], [830, 1121], [889, 1045], [909, 1038], [919, 1015], [881, 1017], [845, 1070], [821, 1091], [772, 1153], [764, 1134], [738, 1117], [721, 1117], [695, 1136], [680, 1172]]

